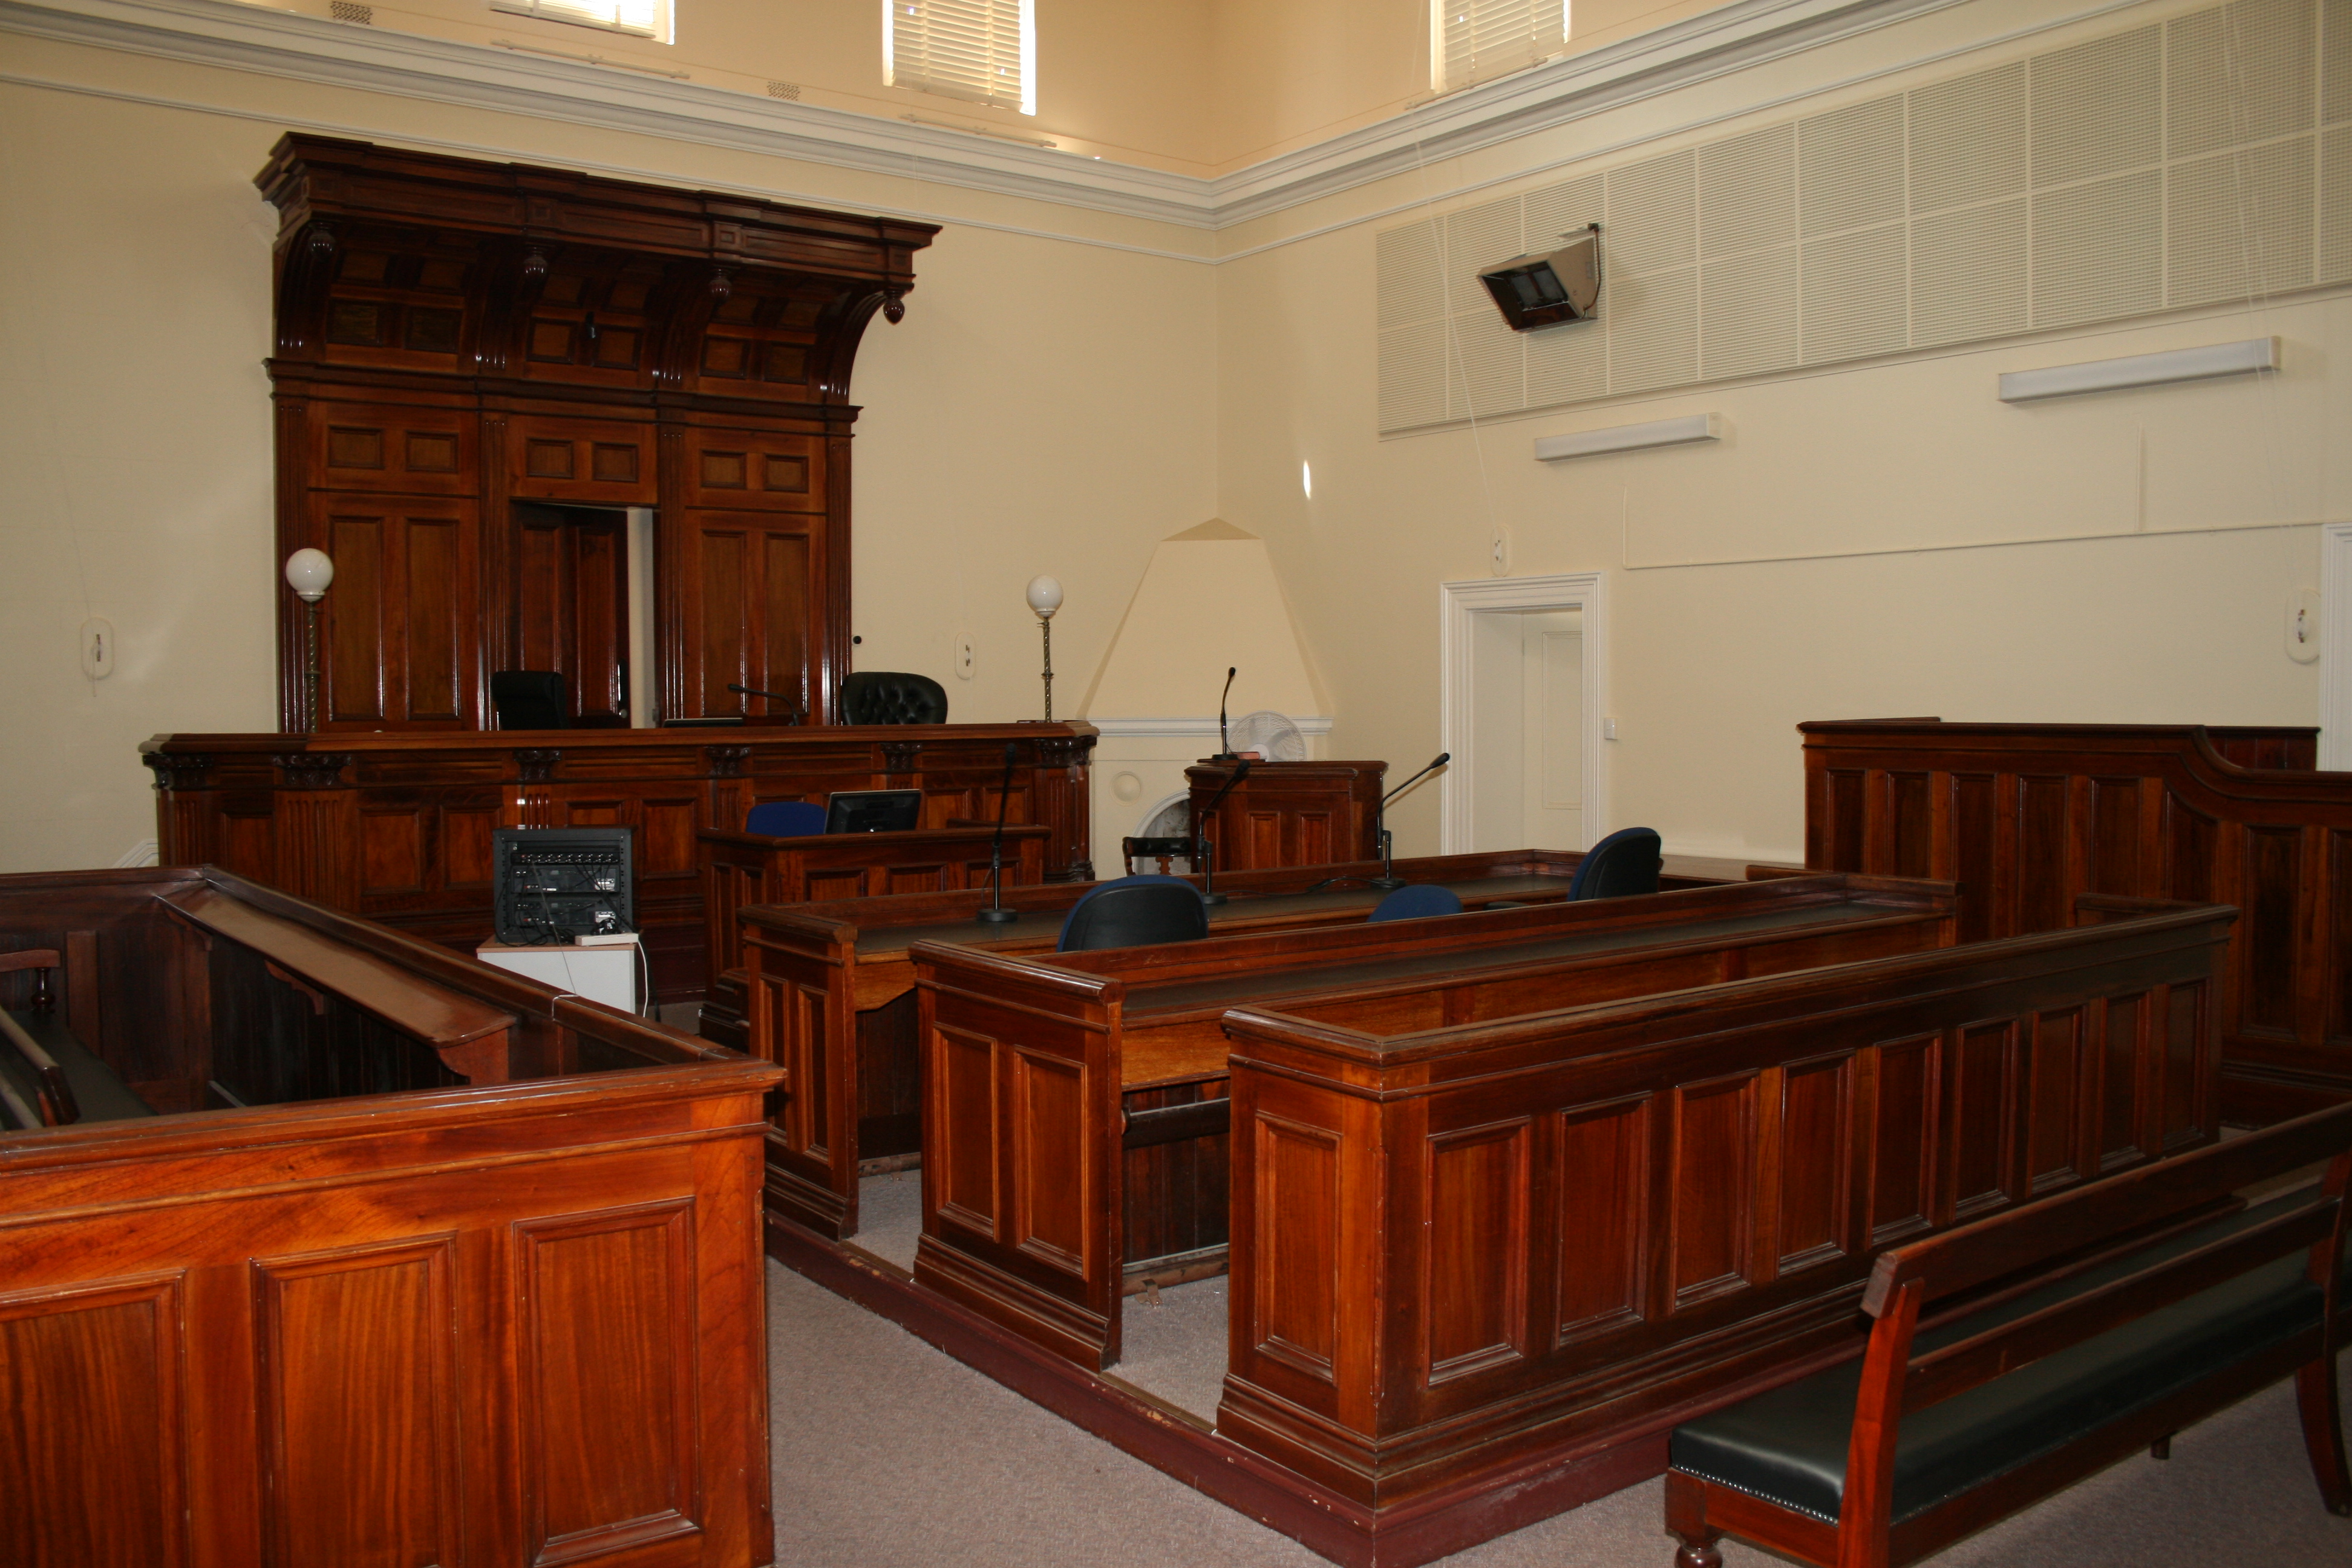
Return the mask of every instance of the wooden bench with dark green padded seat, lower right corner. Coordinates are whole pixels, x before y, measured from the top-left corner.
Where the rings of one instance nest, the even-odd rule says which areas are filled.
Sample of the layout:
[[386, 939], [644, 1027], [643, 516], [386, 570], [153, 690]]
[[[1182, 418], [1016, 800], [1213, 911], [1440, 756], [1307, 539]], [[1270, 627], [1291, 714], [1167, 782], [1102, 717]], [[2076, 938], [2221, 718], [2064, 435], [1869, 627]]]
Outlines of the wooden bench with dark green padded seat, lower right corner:
[[[2211, 1218], [2319, 1159], [2324, 1185]], [[1722, 1535], [1820, 1568], [1912, 1563], [2288, 1375], [2321, 1505], [2352, 1514], [2347, 1178], [2340, 1105], [1882, 1253], [1858, 1361], [1675, 1432], [1677, 1568], [1722, 1568]]]

